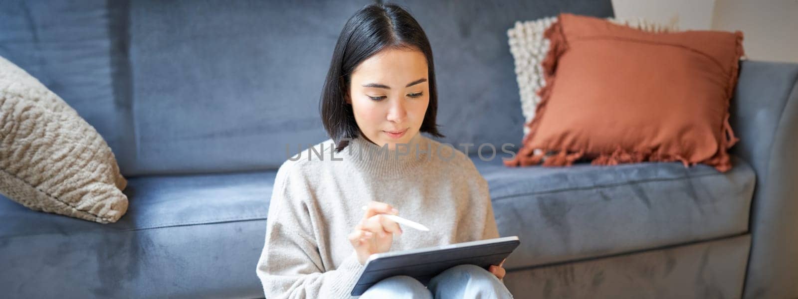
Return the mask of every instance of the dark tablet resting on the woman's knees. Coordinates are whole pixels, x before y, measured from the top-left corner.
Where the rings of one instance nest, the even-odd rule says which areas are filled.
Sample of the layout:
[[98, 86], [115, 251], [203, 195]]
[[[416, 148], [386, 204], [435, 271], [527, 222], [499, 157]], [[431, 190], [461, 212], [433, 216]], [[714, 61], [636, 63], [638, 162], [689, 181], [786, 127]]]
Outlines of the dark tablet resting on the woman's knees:
[[372, 254], [352, 289], [360, 296], [378, 281], [407, 275], [427, 285], [433, 277], [453, 266], [473, 264], [488, 269], [499, 265], [520, 244], [518, 236]]

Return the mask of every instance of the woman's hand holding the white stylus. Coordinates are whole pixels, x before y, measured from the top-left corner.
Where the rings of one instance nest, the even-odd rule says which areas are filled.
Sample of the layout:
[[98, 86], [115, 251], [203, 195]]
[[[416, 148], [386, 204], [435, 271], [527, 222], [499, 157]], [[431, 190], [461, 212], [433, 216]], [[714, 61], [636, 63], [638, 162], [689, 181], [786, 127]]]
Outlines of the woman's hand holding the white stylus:
[[393, 243], [393, 234], [401, 234], [397, 222], [382, 216], [382, 214], [398, 214], [399, 211], [387, 203], [371, 202], [367, 206], [363, 218], [354, 231], [349, 234], [350, 242], [358, 254], [358, 262], [365, 265], [371, 254], [388, 252]]

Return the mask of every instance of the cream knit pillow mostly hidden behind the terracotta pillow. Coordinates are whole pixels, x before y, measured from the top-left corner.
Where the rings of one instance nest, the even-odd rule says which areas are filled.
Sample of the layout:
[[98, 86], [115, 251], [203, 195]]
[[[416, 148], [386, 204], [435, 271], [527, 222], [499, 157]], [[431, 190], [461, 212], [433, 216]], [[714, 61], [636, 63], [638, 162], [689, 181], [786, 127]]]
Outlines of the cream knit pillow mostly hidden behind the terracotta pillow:
[[[607, 18], [610, 22], [630, 26], [639, 30], [650, 32], [675, 32], [678, 26], [662, 26], [643, 18], [617, 19]], [[535, 108], [540, 101], [537, 92], [546, 85], [543, 80], [543, 58], [548, 53], [549, 41], [543, 37], [551, 23], [557, 17], [539, 18], [535, 21], [516, 22], [516, 26], [507, 30], [510, 44], [510, 53], [516, 62], [516, 81], [518, 81], [521, 96], [521, 112], [528, 124], [535, 118]], [[523, 126], [523, 134], [529, 131]]]

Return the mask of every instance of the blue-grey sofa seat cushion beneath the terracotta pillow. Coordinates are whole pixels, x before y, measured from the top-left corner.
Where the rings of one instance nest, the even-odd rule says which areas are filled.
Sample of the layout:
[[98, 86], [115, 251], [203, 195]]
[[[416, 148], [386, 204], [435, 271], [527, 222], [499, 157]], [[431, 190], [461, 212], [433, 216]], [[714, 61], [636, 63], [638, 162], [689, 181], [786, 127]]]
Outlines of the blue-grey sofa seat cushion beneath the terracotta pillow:
[[504, 167], [472, 160], [488, 181], [502, 236], [521, 245], [507, 269], [721, 238], [748, 230], [754, 171], [699, 164]]

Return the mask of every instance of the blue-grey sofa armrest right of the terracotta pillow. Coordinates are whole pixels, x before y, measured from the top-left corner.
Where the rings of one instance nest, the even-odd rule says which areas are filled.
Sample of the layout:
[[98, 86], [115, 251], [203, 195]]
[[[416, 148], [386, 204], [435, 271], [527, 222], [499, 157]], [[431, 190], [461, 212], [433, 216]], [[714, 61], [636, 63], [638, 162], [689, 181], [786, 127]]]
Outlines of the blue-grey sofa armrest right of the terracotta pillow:
[[798, 64], [742, 61], [731, 151], [757, 172], [746, 298], [798, 297]]

